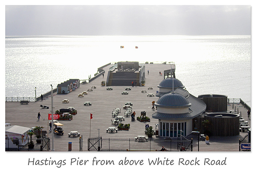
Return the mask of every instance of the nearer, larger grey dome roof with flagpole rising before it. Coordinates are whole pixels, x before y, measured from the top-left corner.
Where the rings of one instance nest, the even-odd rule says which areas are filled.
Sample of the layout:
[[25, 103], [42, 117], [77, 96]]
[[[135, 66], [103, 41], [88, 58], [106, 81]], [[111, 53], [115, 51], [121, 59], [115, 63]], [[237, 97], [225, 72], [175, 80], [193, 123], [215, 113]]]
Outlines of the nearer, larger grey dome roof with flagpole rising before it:
[[171, 92], [160, 97], [155, 105], [166, 108], [186, 108], [190, 107], [191, 103], [181, 94]]

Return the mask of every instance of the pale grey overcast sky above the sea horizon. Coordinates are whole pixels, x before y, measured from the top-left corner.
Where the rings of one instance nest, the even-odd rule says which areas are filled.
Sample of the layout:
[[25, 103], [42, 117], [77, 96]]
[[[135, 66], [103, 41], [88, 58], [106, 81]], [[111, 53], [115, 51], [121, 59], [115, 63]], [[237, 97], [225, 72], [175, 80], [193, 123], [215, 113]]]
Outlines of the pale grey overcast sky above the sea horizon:
[[251, 6], [6, 6], [6, 36], [251, 35]]

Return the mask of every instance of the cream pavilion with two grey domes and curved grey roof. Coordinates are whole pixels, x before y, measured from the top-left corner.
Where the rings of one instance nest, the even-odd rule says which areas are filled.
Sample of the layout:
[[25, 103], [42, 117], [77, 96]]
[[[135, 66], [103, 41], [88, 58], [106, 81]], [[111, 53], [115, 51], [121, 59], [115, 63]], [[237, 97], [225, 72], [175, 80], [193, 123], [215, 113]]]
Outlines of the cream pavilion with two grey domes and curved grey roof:
[[206, 104], [188, 93], [180, 80], [166, 78], [158, 85], [160, 97], [155, 103], [157, 112], [152, 118], [158, 119], [158, 135], [162, 137], [188, 136], [192, 132], [192, 119], [206, 110]]

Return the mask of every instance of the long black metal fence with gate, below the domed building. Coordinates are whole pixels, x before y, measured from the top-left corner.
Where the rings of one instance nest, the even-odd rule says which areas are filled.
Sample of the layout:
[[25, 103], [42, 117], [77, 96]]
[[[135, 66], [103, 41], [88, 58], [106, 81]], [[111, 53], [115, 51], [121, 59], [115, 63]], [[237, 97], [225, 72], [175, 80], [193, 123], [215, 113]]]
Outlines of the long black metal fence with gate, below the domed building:
[[88, 151], [192, 151], [192, 140], [88, 138]]

